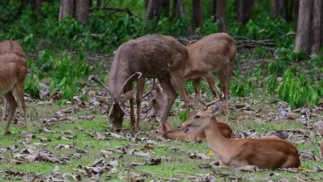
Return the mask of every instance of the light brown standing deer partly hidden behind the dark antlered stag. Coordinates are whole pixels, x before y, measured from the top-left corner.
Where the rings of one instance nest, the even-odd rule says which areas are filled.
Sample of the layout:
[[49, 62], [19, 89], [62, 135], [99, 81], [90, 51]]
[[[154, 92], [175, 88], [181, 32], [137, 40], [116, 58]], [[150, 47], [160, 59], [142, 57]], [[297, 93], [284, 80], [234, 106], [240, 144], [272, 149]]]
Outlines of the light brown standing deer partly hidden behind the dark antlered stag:
[[195, 102], [193, 114], [197, 112], [199, 85], [206, 79], [215, 97], [219, 98], [213, 72], [217, 73], [226, 97], [228, 112], [229, 82], [233, 72], [233, 63], [237, 52], [237, 43], [226, 33], [210, 34], [199, 41], [190, 41], [187, 45], [188, 61], [186, 63], [185, 80], [192, 79], [195, 84]]

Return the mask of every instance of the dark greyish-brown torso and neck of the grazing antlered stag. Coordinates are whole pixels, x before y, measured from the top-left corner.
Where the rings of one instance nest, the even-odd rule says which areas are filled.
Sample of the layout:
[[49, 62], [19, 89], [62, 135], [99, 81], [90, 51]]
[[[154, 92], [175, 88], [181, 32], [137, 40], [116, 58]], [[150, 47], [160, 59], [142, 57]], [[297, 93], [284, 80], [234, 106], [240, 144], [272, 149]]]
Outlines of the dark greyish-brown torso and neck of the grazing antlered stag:
[[174, 70], [184, 73], [187, 57], [186, 47], [173, 37], [150, 34], [128, 41], [116, 51], [108, 86], [117, 92], [134, 72], [141, 72], [146, 78], [164, 77]]

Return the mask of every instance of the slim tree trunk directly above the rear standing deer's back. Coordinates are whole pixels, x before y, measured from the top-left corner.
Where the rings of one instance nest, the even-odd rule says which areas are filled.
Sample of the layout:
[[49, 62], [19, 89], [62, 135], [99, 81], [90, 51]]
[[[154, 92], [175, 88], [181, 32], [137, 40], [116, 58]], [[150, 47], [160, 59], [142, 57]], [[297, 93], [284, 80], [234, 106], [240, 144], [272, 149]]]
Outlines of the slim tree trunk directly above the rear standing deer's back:
[[227, 32], [226, 0], [217, 0], [217, 29], [219, 32]]

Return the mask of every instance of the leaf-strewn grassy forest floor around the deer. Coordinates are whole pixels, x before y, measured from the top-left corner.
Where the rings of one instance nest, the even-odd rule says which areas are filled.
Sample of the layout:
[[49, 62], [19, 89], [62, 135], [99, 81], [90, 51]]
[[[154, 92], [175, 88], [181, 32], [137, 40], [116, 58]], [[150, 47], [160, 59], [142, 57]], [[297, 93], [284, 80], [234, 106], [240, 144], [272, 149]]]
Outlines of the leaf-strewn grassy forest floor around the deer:
[[[150, 119], [149, 98], [141, 105], [141, 132], [133, 132], [128, 119], [124, 119], [124, 131], [112, 133], [108, 117], [103, 114], [106, 105], [92, 99], [103, 90], [94, 83], [84, 89], [90, 97], [87, 102], [75, 97], [59, 105], [28, 98], [28, 131], [24, 120], [19, 119], [17, 125], [11, 125], [9, 135], [0, 136], [0, 181], [323, 180], [319, 150], [322, 108], [311, 108], [306, 115], [291, 112], [287, 106], [287, 114], [279, 117], [277, 98], [262, 89], [246, 97], [232, 97], [230, 114], [219, 119], [231, 126], [235, 138], [259, 138], [279, 132], [297, 147], [301, 159], [299, 169], [235, 169], [213, 165], [215, 157], [208, 155], [206, 142], [148, 138], [158, 126], [155, 119]], [[206, 93], [204, 99], [211, 101], [213, 96]], [[182, 105], [178, 97], [168, 119], [173, 129], [182, 122]], [[1, 131], [3, 127], [1, 122]]]

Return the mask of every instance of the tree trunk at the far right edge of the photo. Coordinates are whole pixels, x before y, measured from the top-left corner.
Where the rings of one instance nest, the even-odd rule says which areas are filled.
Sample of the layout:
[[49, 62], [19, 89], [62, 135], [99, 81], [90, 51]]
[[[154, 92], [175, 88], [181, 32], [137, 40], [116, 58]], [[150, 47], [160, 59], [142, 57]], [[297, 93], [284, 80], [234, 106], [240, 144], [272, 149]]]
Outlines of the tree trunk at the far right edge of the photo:
[[319, 53], [321, 47], [321, 5], [322, 0], [313, 0], [310, 47], [311, 54]]

